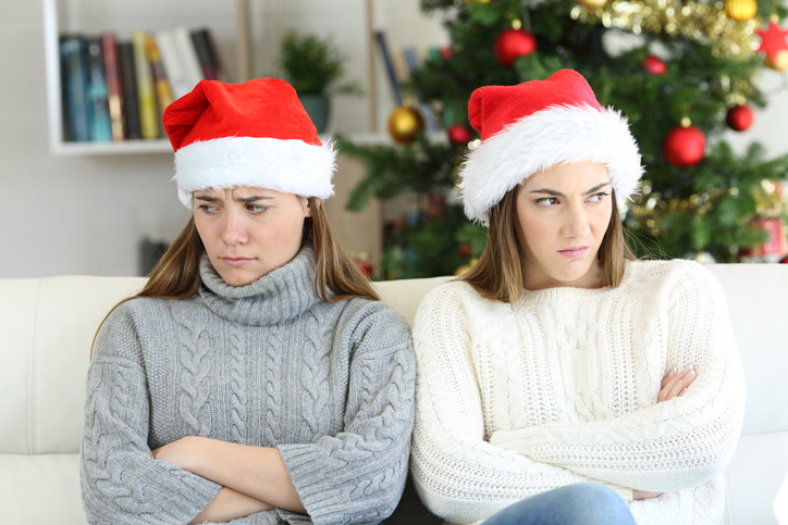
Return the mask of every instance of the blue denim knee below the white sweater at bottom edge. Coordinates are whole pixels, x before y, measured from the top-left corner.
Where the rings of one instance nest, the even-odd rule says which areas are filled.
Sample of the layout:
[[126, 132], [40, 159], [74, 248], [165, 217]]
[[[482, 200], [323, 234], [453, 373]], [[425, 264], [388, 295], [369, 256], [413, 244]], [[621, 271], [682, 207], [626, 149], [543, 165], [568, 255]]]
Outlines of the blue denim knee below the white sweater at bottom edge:
[[484, 525], [635, 525], [627, 503], [595, 483], [579, 483], [531, 496], [490, 516]]

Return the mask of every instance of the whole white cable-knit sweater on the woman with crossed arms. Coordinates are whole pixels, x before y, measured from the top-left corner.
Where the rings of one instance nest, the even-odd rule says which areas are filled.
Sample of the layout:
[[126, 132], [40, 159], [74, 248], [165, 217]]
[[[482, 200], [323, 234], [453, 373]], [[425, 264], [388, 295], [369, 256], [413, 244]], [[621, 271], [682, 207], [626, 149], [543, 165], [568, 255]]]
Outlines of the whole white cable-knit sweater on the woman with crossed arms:
[[[577, 482], [612, 487], [639, 525], [721, 523], [744, 408], [727, 305], [689, 261], [628, 263], [617, 288], [526, 290], [513, 309], [452, 282], [414, 322], [411, 470], [427, 507], [481, 521]], [[663, 377], [693, 366], [684, 396]], [[663, 492], [632, 501], [633, 488]]]

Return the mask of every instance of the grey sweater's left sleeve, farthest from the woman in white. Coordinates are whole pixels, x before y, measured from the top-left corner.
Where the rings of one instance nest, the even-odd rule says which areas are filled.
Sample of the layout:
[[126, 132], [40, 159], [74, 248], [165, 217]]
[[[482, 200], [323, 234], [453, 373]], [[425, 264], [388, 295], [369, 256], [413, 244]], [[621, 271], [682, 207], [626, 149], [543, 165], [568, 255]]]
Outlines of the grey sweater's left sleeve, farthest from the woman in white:
[[219, 485], [148, 448], [149, 398], [134, 324], [121, 305], [97, 338], [87, 376], [81, 478], [90, 523], [188, 523]]

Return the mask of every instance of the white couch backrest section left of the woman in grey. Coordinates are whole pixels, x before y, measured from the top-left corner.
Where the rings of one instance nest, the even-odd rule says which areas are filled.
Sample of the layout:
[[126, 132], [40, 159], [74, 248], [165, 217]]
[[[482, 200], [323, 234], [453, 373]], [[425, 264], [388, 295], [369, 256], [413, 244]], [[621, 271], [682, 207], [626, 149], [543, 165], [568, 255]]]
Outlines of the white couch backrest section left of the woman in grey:
[[90, 343], [141, 277], [0, 279], [0, 453], [77, 452]]

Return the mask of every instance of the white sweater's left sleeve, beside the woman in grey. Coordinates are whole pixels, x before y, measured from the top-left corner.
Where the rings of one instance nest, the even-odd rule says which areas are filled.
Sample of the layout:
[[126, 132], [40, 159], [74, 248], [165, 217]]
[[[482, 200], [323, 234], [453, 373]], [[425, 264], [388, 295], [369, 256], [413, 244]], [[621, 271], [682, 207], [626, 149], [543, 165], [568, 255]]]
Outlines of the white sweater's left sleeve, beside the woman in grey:
[[[457, 287], [431, 291], [414, 322], [417, 363], [411, 471], [421, 500], [453, 523], [472, 523], [545, 490], [588, 476], [484, 440], [469, 320]], [[607, 484], [625, 500], [631, 490]]]

